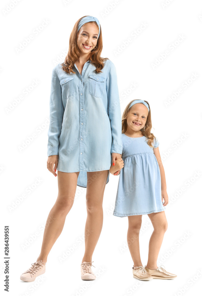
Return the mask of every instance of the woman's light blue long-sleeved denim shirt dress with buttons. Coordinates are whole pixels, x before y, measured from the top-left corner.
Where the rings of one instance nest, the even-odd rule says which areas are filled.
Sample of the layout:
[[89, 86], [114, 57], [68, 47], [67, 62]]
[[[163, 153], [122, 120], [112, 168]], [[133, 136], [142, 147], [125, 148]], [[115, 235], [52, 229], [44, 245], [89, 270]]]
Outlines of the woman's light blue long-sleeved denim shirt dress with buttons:
[[86, 172], [109, 170], [111, 153], [122, 154], [116, 68], [108, 59], [102, 73], [95, 69], [87, 61], [81, 75], [76, 64], [68, 74], [58, 64], [51, 78], [48, 156], [58, 155], [57, 170], [80, 172], [80, 187], [87, 186]]

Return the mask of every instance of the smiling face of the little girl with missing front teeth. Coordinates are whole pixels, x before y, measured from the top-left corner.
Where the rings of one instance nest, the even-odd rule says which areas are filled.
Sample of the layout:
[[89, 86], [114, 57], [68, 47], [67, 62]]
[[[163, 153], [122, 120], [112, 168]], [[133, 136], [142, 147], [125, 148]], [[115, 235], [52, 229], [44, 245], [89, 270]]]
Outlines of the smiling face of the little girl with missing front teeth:
[[127, 132], [139, 132], [146, 124], [149, 110], [142, 103], [132, 105], [127, 115]]

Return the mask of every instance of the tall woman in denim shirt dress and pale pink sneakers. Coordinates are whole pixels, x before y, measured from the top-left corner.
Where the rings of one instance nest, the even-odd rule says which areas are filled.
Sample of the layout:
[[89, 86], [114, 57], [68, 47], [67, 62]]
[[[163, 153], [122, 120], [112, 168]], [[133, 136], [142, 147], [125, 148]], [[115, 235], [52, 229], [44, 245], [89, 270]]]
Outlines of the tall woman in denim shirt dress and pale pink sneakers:
[[46, 221], [41, 253], [21, 274], [23, 281], [34, 281], [45, 272], [48, 254], [62, 232], [77, 185], [86, 188], [87, 207], [81, 278], [96, 278], [91, 263], [103, 225], [104, 189], [111, 163], [115, 165], [122, 154], [116, 68], [100, 56], [101, 51], [98, 19], [82, 17], [70, 35], [65, 62], [52, 71], [47, 168], [54, 176], [58, 170], [58, 197]]

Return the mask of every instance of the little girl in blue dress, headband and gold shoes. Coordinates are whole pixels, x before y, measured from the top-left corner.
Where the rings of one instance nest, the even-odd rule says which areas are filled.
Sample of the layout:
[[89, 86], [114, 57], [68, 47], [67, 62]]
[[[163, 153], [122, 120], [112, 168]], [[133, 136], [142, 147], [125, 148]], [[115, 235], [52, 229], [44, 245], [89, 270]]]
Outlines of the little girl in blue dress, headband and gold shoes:
[[[151, 133], [151, 110], [147, 101], [132, 100], [122, 115], [122, 158], [111, 165], [119, 176], [114, 216], [128, 217], [127, 242], [134, 263], [133, 277], [139, 280], [173, 279], [177, 276], [156, 265], [167, 230], [165, 206], [168, 204], [166, 179], [159, 153], [159, 142]], [[164, 198], [164, 203], [163, 203]], [[142, 215], [153, 225], [148, 262], [140, 259], [139, 232]]]

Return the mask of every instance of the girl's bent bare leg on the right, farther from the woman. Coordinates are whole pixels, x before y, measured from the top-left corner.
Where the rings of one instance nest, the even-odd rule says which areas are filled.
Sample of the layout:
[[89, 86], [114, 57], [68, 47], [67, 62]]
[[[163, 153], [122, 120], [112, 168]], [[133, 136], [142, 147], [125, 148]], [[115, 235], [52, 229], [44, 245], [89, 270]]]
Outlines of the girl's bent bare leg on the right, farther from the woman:
[[153, 232], [149, 240], [148, 262], [146, 267], [149, 269], [156, 269], [156, 261], [158, 259], [161, 244], [163, 242], [164, 234], [168, 228], [168, 223], [165, 211], [148, 214], [153, 225]]

